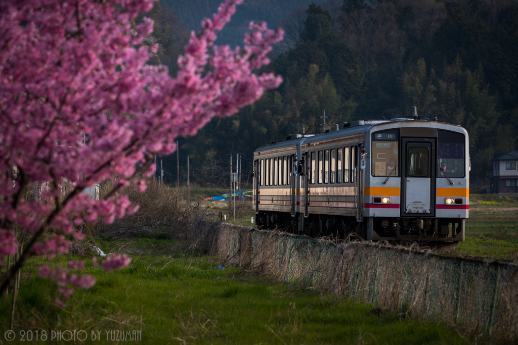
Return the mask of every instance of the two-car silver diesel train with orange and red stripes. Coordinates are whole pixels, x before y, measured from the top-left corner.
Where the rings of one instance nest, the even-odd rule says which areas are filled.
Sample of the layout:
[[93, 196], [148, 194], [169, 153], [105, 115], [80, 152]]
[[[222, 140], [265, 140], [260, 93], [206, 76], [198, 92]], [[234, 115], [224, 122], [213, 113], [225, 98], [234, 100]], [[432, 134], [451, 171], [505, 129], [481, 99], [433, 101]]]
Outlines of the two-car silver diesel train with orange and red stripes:
[[412, 115], [358, 120], [261, 146], [252, 167], [256, 225], [312, 237], [464, 241], [468, 132]]

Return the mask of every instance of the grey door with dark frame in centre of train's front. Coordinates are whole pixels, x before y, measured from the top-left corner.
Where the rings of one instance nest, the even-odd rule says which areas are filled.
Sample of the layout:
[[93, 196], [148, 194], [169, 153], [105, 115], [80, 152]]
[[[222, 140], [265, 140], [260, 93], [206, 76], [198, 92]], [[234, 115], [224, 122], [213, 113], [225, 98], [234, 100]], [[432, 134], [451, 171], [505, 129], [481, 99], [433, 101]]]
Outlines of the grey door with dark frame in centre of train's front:
[[435, 138], [402, 138], [401, 217], [435, 216]]

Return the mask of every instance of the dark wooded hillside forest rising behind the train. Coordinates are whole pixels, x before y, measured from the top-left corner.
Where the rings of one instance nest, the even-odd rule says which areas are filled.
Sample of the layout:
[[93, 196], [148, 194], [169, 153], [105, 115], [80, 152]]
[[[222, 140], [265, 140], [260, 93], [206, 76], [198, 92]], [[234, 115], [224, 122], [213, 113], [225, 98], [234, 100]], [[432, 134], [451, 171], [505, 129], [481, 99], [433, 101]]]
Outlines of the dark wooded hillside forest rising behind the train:
[[[412, 106], [424, 118], [437, 116], [468, 130], [472, 186], [487, 183], [495, 155], [517, 147], [515, 1], [328, 0], [304, 7], [272, 0], [245, 3], [250, 4], [239, 6], [234, 18], [239, 25], [277, 6], [272, 7], [277, 17], [265, 16], [273, 21], [270, 27], [280, 25], [286, 34], [268, 68], [284, 82], [238, 114], [213, 119], [196, 136], [180, 139], [181, 183], [188, 155], [191, 182], [223, 187], [231, 155], [242, 157], [246, 175], [253, 152], [263, 144], [303, 128], [321, 133], [356, 119], [406, 117]], [[195, 25], [189, 16], [196, 6], [195, 1], [163, 0], [153, 9], [158, 55], [172, 74], [189, 26]], [[286, 14], [278, 18], [279, 13]], [[222, 32], [217, 42], [232, 46], [236, 32]], [[324, 111], [326, 126], [321, 126]], [[162, 159], [164, 179], [175, 184], [176, 155]]]

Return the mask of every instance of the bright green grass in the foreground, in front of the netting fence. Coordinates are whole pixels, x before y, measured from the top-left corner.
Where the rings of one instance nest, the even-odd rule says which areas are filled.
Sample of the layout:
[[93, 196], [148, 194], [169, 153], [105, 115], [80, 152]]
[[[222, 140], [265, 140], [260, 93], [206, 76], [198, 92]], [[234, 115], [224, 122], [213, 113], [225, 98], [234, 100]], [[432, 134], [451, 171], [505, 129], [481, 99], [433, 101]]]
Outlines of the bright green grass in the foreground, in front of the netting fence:
[[[216, 258], [178, 242], [138, 239], [132, 245], [151, 250], [133, 256], [131, 266], [110, 273], [90, 261], [84, 273], [92, 274], [97, 283], [76, 290], [64, 309], [53, 305], [53, 284], [37, 277], [37, 266], [45, 261], [31, 259], [23, 269], [15, 331], [83, 329], [90, 337], [92, 330], [141, 330], [142, 341], [153, 344], [469, 342], [441, 322], [337, 301], [327, 292], [276, 284], [235, 267], [217, 269]], [[66, 265], [70, 259], [76, 258], [60, 256], [52, 264]], [[5, 332], [10, 303], [0, 301]]]

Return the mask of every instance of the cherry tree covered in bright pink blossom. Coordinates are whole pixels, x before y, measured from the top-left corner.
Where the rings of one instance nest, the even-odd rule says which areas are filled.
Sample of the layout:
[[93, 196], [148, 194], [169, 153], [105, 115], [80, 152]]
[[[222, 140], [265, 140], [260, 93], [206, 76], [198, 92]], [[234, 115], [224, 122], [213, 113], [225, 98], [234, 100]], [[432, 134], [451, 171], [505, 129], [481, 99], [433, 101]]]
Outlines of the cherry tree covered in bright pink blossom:
[[[152, 0], [0, 1], [0, 260], [20, 249], [1, 278], [0, 292], [32, 255], [66, 253], [65, 235], [80, 239], [82, 222], [106, 222], [136, 211], [119, 190], [154, 172], [155, 154], [175, 151], [175, 138], [193, 136], [214, 116], [230, 116], [281, 78], [256, 74], [269, 63], [282, 29], [250, 23], [244, 47], [215, 46], [217, 33], [242, 0], [227, 0], [191, 33], [177, 78], [146, 62], [157, 45], [143, 38], [153, 22], [135, 25]], [[85, 188], [111, 178], [105, 200]], [[41, 188], [46, 185], [46, 188]], [[64, 187], [68, 191], [63, 193]], [[38, 188], [35, 188], [37, 186]], [[113, 254], [106, 270], [125, 266]], [[0, 263], [2, 264], [2, 263]], [[70, 262], [72, 272], [83, 264]], [[64, 298], [92, 277], [41, 266]], [[64, 305], [56, 300], [56, 304]]]

